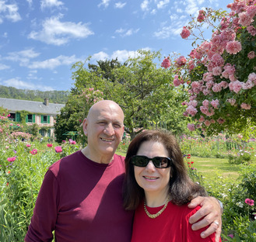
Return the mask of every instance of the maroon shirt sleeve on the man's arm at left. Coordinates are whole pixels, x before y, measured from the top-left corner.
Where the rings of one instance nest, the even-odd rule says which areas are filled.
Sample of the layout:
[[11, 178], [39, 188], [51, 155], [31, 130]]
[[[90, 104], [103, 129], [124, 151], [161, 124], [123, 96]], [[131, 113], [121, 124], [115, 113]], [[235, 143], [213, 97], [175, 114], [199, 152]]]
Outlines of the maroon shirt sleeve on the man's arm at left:
[[26, 233], [26, 242], [51, 241], [58, 214], [59, 189], [54, 174], [48, 170], [44, 176], [33, 216]]

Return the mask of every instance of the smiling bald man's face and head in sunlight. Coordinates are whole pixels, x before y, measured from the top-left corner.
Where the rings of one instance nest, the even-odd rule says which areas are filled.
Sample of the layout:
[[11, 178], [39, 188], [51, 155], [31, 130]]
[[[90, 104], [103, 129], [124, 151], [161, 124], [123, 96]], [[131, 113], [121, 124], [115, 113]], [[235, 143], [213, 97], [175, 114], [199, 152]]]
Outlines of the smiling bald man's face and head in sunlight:
[[114, 155], [124, 133], [123, 120], [124, 114], [116, 104], [102, 102], [89, 112], [83, 122], [83, 130], [88, 137], [91, 160]]

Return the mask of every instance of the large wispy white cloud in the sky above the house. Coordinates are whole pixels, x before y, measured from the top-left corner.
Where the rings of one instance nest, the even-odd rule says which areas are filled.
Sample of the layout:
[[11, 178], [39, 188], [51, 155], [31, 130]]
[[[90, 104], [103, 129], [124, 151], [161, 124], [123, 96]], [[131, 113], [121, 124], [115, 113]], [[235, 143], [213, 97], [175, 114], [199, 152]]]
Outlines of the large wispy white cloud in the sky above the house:
[[61, 46], [68, 43], [70, 39], [86, 38], [93, 35], [86, 23], [61, 22], [60, 16], [53, 16], [50, 19], [44, 20], [39, 32], [32, 31], [28, 38], [40, 40], [44, 43]]

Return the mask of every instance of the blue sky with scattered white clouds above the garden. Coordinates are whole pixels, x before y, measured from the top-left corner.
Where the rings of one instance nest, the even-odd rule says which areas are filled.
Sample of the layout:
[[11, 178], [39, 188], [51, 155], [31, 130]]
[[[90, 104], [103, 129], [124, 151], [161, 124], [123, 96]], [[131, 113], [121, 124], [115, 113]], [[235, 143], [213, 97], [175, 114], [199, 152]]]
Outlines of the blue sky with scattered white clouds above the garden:
[[[69, 90], [71, 66], [136, 50], [187, 55], [180, 33], [200, 9], [231, 0], [0, 0], [0, 85]], [[226, 9], [227, 10], [227, 9]]]

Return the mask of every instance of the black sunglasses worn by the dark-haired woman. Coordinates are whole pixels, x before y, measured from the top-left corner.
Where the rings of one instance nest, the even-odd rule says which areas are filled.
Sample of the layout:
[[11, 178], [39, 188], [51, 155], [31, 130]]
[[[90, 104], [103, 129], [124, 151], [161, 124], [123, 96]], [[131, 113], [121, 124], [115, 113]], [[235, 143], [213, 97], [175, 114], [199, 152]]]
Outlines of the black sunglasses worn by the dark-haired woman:
[[172, 159], [169, 157], [153, 157], [149, 158], [145, 155], [134, 155], [132, 156], [132, 164], [135, 166], [145, 168], [149, 161], [152, 161], [156, 168], [170, 168]]

